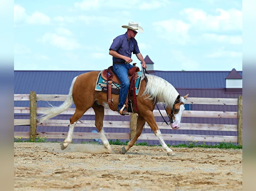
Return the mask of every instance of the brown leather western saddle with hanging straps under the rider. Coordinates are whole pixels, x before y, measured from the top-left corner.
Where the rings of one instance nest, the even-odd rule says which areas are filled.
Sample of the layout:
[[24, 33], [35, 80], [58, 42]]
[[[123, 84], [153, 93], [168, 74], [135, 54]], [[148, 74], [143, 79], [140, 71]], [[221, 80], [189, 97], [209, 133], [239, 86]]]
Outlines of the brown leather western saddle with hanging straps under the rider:
[[[128, 71], [130, 87], [129, 87], [128, 94], [126, 96], [126, 101], [125, 101], [125, 105], [126, 105], [128, 112], [133, 112], [132, 106], [131, 106], [131, 100], [130, 100], [130, 95], [131, 95], [132, 90], [133, 90], [135, 108], [136, 108], [136, 110], [138, 110], [137, 99], [136, 99], [136, 94], [135, 94], [135, 83], [138, 78], [137, 72], [139, 72], [140, 69], [139, 69], [139, 67], [136, 67], [135, 65], [136, 65], [136, 63], [133, 63], [133, 67]], [[103, 70], [101, 77], [107, 81], [107, 100], [108, 100], [109, 108], [113, 111], [117, 111], [117, 109], [115, 108], [115, 106], [112, 102], [112, 98], [111, 98], [111, 84], [112, 83], [121, 84], [121, 82], [118, 79], [118, 77], [116, 76], [116, 74], [113, 70], [113, 66], [110, 66], [108, 69]]]

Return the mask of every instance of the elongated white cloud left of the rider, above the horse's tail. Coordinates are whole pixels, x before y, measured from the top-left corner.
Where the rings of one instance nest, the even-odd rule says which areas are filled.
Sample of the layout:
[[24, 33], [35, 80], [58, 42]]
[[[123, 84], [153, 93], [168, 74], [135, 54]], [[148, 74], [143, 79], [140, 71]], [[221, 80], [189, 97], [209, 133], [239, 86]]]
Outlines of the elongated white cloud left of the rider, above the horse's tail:
[[65, 36], [59, 36], [55, 33], [46, 33], [42, 36], [42, 38], [38, 39], [40, 43], [49, 43], [57, 48], [61, 48], [64, 50], [75, 50], [81, 47], [81, 45], [72, 38], [67, 38]]

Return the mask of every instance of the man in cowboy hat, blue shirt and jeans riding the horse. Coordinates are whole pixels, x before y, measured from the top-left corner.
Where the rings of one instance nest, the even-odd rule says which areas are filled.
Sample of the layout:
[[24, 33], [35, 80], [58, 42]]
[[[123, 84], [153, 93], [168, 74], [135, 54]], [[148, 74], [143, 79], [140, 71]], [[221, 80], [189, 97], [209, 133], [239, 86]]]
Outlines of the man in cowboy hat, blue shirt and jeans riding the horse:
[[136, 22], [129, 22], [128, 26], [124, 25], [122, 27], [127, 28], [127, 32], [113, 40], [109, 54], [113, 56], [113, 70], [121, 82], [118, 112], [121, 115], [129, 115], [125, 108], [125, 100], [130, 86], [128, 70], [132, 68], [130, 64], [132, 62], [132, 53], [136, 54], [137, 58], [141, 61], [142, 68], [146, 69], [147, 66], [135, 40], [137, 33], [144, 32], [143, 28]]

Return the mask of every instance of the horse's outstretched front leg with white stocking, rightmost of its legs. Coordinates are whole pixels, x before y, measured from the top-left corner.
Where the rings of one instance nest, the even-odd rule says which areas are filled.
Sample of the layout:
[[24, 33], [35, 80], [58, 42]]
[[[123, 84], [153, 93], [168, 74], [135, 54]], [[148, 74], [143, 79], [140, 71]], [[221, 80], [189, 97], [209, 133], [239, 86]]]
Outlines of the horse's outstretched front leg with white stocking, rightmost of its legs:
[[155, 136], [159, 139], [162, 148], [167, 152], [167, 155], [169, 156], [173, 156], [175, 155], [175, 153], [165, 144], [162, 134], [155, 122], [155, 117], [153, 115], [153, 112], [150, 112], [147, 116], [144, 116], [144, 118], [146, 119], [148, 125], [150, 126], [150, 128], [152, 129], [152, 131], [155, 133]]

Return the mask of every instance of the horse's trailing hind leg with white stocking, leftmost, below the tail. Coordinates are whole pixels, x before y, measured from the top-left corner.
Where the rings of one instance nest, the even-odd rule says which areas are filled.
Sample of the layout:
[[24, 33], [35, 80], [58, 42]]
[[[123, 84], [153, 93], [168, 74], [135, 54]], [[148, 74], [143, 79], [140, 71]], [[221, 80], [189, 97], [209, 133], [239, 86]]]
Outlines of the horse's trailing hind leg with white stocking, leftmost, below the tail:
[[69, 132], [68, 132], [67, 138], [62, 142], [60, 146], [61, 150], [64, 150], [65, 148], [67, 148], [69, 144], [72, 142], [74, 128], [77, 124], [77, 121], [82, 117], [84, 113], [85, 111], [76, 109], [74, 115], [70, 118]]

